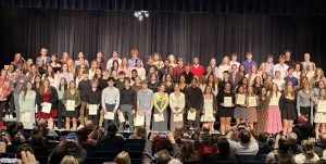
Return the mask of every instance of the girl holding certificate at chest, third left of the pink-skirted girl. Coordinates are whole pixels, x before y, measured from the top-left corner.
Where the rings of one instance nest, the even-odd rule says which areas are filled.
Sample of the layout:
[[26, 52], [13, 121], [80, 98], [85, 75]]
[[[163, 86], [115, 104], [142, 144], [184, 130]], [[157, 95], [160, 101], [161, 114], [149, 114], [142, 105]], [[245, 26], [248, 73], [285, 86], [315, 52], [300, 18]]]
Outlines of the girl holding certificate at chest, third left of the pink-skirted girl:
[[237, 125], [240, 123], [244, 123], [247, 118], [247, 112], [244, 110], [246, 106], [246, 92], [244, 87], [238, 86], [236, 89], [236, 108], [234, 112], [234, 117], [236, 118]]

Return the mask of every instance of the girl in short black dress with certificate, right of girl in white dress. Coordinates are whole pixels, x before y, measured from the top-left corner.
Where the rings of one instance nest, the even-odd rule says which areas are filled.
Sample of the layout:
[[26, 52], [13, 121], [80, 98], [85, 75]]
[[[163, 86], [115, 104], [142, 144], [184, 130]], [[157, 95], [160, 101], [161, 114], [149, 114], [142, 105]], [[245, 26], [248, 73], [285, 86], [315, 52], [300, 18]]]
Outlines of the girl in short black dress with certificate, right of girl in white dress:
[[226, 129], [230, 127], [231, 117], [234, 117], [235, 93], [231, 91], [231, 84], [226, 81], [223, 90], [216, 97], [217, 99], [217, 117], [221, 122], [221, 134], [225, 135]]

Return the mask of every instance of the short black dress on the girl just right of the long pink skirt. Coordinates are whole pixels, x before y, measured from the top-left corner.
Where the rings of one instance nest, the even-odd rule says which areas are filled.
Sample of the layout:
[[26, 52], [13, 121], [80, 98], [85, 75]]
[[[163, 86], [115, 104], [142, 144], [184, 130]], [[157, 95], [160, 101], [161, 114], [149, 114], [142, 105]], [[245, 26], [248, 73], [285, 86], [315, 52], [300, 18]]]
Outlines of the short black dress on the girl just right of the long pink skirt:
[[281, 94], [279, 98], [279, 109], [281, 119], [297, 119], [297, 110], [296, 110], [296, 97], [293, 100], [287, 99], [285, 94]]

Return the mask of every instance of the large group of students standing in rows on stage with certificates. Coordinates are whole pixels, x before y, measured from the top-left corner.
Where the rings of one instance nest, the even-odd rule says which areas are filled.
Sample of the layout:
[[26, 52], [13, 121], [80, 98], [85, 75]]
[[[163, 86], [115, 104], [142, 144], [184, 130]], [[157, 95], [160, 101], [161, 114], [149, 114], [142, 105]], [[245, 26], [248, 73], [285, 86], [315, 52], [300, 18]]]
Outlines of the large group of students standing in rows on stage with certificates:
[[[0, 119], [15, 111], [27, 128], [47, 119], [49, 128], [76, 130], [78, 123], [92, 119], [103, 127], [116, 122], [120, 130], [129, 125], [147, 131], [206, 124], [225, 135], [235, 118], [259, 133], [289, 134], [294, 122], [315, 123], [316, 138], [319, 129], [325, 131], [326, 78], [309, 53], [303, 62], [286, 51], [260, 64], [251, 52], [241, 63], [233, 53], [220, 65], [212, 58], [206, 66], [197, 56], [187, 64], [173, 54], [162, 60], [155, 52], [141, 60], [138, 53], [133, 49], [130, 59], [121, 59], [113, 51], [105, 61], [98, 52], [88, 61], [83, 52], [73, 59], [41, 48], [36, 63], [16, 53], [1, 70], [0, 111], [5, 112]], [[216, 121], [220, 129], [214, 129]]]

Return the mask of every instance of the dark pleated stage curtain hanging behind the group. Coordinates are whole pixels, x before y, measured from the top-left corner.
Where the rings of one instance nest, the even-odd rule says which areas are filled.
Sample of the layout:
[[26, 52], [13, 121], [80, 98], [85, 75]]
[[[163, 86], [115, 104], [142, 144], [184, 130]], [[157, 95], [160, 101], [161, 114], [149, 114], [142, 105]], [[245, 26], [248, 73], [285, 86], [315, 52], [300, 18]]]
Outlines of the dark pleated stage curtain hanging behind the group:
[[[83, 51], [87, 59], [93, 59], [97, 51], [102, 51], [105, 59], [109, 59], [112, 50], [120, 51], [122, 56], [129, 56], [130, 49], [138, 48], [142, 59], [158, 51], [163, 56], [173, 53], [186, 58], [187, 61], [193, 55], [199, 55], [205, 64], [212, 56], [217, 58], [220, 63], [223, 55], [231, 52], [237, 52], [240, 60], [243, 60], [247, 51], [252, 51], [254, 60], [261, 62], [266, 54], [279, 54], [289, 49], [297, 60], [301, 61], [303, 53], [310, 52], [313, 61], [321, 66], [326, 65], [326, 61], [323, 60], [323, 56], [326, 56], [326, 17], [321, 10], [310, 14], [306, 14], [308, 11], [296, 14], [293, 11], [297, 10], [292, 7], [289, 7], [291, 14], [153, 10], [150, 17], [140, 23], [134, 17], [131, 10], [87, 10], [87, 1], [83, 1], [83, 10], [62, 10], [59, 8], [62, 5], [54, 8], [54, 4], [59, 4], [55, 2], [62, 2], [61, 0], [43, 0], [41, 2], [53, 3], [41, 3], [38, 9], [27, 8], [25, 4], [17, 8], [16, 3], [9, 8], [4, 5], [8, 3], [0, 1], [0, 63], [12, 61], [15, 52], [22, 52], [25, 59], [35, 59], [39, 48], [47, 47], [50, 53], [57, 54], [67, 51], [71, 55], [76, 55]], [[250, 2], [254, 1], [256, 0]], [[268, 2], [268, 9], [278, 4]], [[186, 4], [183, 7], [186, 8]], [[316, 3], [313, 3], [314, 5]], [[252, 11], [253, 7], [243, 10]]]

